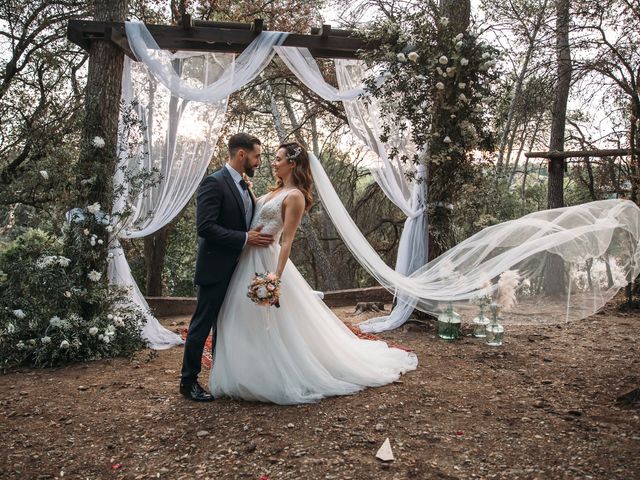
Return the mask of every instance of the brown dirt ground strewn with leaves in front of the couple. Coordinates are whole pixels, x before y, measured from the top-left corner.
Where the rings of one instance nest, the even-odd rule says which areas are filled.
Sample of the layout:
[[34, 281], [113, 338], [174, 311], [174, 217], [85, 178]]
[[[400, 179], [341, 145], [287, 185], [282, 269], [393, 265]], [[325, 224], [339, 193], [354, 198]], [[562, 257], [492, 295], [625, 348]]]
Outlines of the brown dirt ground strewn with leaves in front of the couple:
[[0, 376], [0, 478], [640, 478], [640, 408], [616, 402], [640, 387], [639, 320], [510, 326], [497, 348], [408, 323], [380, 336], [417, 371], [303, 406], [188, 402], [182, 348], [23, 369]]

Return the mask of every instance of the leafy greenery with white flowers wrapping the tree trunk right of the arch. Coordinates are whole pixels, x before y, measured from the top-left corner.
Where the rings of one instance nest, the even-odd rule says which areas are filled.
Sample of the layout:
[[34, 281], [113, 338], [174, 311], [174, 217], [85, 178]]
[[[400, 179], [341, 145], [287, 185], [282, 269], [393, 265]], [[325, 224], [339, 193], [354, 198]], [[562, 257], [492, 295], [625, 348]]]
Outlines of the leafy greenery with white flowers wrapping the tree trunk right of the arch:
[[[396, 146], [399, 129], [418, 147], [429, 146], [428, 161], [435, 164], [491, 148], [484, 103], [496, 78], [495, 49], [474, 32], [455, 34], [432, 7], [374, 22], [364, 35], [380, 44], [363, 58], [384, 70], [384, 81], [378, 72], [367, 80], [382, 108], [383, 142]], [[419, 153], [401, 159], [420, 161]]]

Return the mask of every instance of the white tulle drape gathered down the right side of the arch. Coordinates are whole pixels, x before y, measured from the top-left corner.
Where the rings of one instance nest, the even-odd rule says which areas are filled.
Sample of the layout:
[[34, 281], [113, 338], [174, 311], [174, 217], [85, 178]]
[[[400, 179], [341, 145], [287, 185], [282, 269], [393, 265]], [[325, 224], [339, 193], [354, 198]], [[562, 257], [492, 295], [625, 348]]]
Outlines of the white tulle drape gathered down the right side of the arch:
[[[363, 99], [366, 93], [364, 79], [368, 70], [359, 60], [337, 59], [336, 76], [339, 88], [328, 84], [313, 55], [306, 48], [274, 47], [278, 56], [308, 88], [325, 100], [342, 101], [352, 133], [370, 151], [370, 172], [385, 195], [407, 216], [396, 259], [396, 271], [408, 275], [422, 267], [428, 258], [428, 218], [424, 208], [427, 172], [418, 166], [415, 180], [406, 175], [406, 166], [399, 160], [391, 160], [388, 152], [396, 148], [400, 155], [412, 157], [415, 146], [408, 140], [410, 132], [391, 132], [387, 144], [380, 141], [380, 109], [375, 98]], [[382, 77], [378, 78], [381, 82]], [[422, 154], [426, 157], [427, 151]], [[426, 163], [426, 162], [425, 162]], [[376, 317], [360, 323], [366, 332], [381, 332], [399, 327], [406, 322], [415, 308], [415, 300], [405, 295], [396, 297], [396, 305], [390, 315]]]

